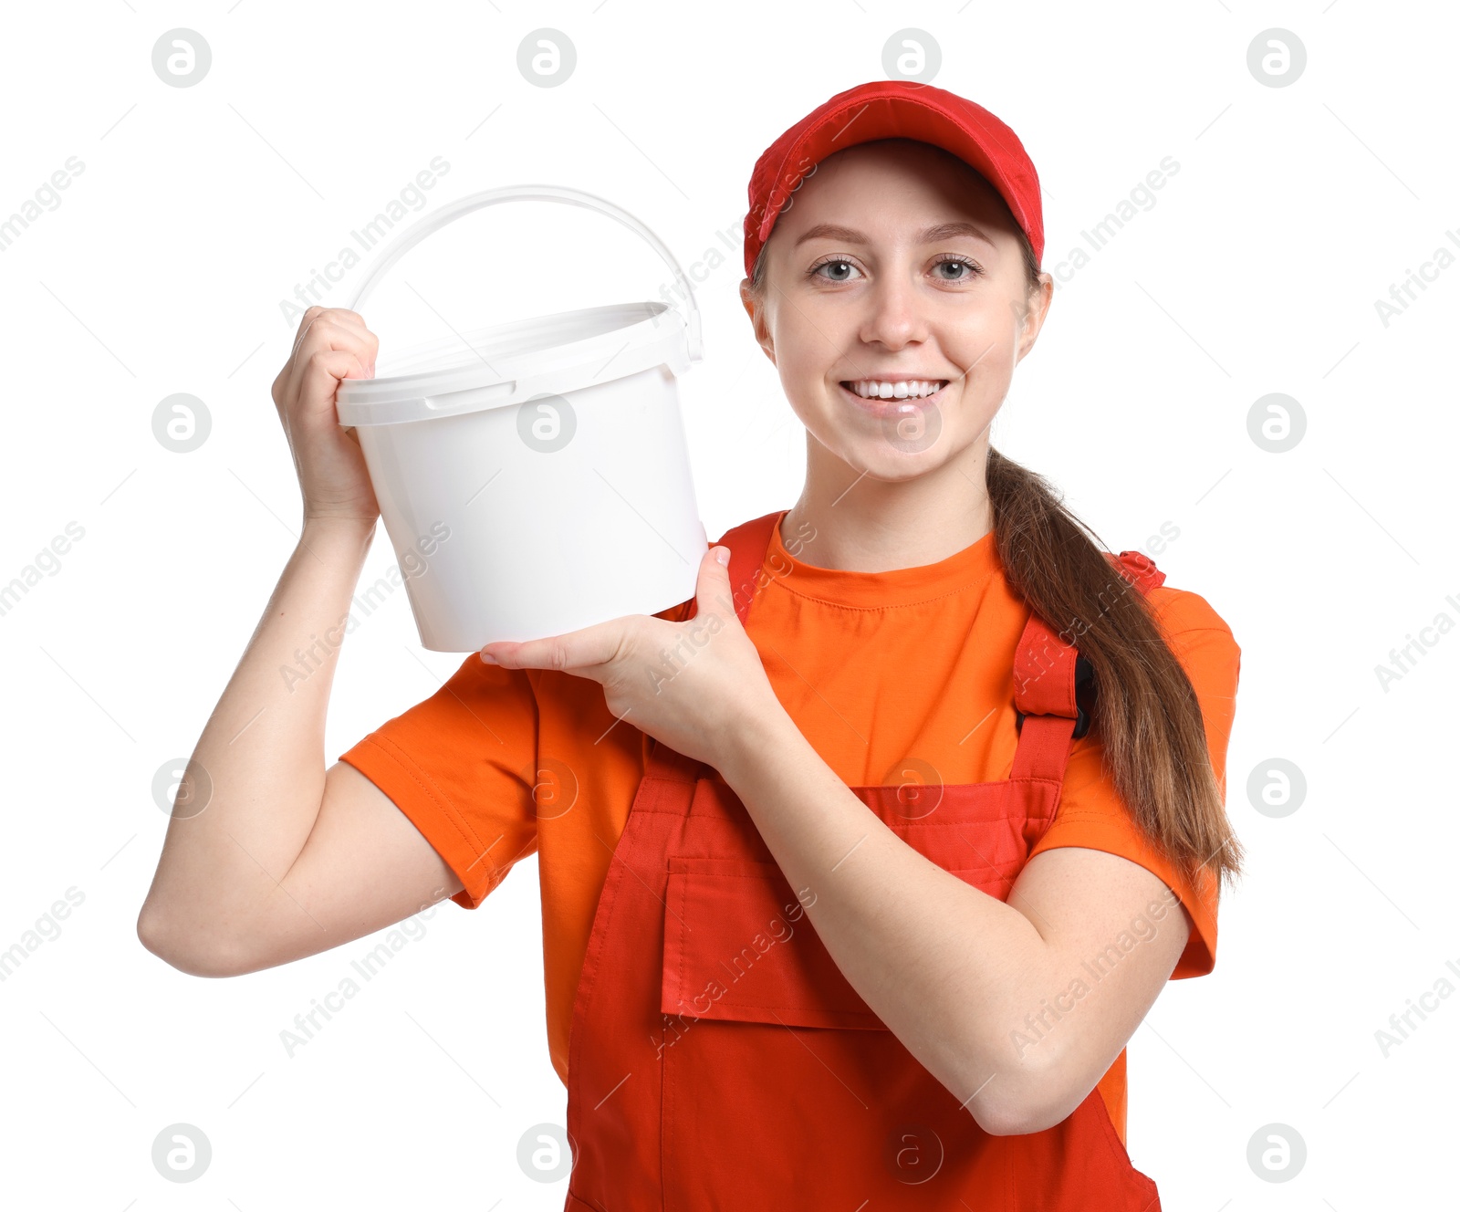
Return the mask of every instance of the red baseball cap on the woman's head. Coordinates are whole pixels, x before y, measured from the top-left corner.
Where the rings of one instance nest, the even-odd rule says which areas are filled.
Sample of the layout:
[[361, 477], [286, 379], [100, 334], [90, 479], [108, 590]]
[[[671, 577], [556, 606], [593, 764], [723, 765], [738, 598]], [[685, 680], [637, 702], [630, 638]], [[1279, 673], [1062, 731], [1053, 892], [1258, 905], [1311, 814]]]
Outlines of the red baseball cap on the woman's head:
[[755, 162], [745, 216], [746, 277], [777, 216], [821, 161], [842, 147], [894, 137], [931, 143], [981, 172], [1029, 237], [1035, 260], [1044, 257], [1040, 174], [1019, 136], [958, 93], [910, 80], [872, 80], [818, 105]]

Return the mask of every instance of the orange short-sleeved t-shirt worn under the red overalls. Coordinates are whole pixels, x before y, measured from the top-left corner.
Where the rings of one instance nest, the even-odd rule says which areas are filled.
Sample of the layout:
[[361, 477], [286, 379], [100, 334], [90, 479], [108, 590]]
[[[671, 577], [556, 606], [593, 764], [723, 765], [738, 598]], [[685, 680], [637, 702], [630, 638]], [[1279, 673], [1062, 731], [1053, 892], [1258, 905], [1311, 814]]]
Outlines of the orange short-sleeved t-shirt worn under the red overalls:
[[[777, 524], [766, 564], [746, 632], [777, 698], [845, 784], [904, 783], [904, 771], [929, 767], [943, 783], [1009, 777], [1018, 743], [1013, 654], [1029, 607], [1010, 590], [991, 532], [937, 564], [845, 572], [796, 559]], [[1241, 653], [1200, 596], [1162, 586], [1149, 600], [1196, 689], [1225, 787]], [[660, 618], [682, 619], [691, 606]], [[548, 1048], [564, 1083], [593, 914], [647, 745], [642, 732], [615, 721], [597, 682], [501, 669], [472, 653], [431, 698], [340, 755], [451, 866], [463, 883], [453, 900], [463, 908], [482, 904], [518, 859], [537, 851]], [[1193, 889], [1146, 843], [1094, 735], [1075, 742], [1056, 818], [1031, 857], [1057, 845], [1121, 854], [1165, 881], [1196, 924], [1172, 978], [1212, 971], [1215, 881]], [[1099, 1089], [1124, 1140], [1124, 1051]]]

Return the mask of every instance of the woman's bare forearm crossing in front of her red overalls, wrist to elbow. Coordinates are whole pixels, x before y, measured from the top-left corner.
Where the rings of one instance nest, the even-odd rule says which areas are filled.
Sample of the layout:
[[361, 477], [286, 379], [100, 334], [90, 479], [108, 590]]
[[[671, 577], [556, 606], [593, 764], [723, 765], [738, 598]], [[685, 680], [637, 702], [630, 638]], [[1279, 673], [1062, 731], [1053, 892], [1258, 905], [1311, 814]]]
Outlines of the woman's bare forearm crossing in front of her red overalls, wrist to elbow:
[[720, 771], [791, 888], [810, 889], [837, 967], [980, 1124], [1012, 1130], [1045, 1101], [1050, 1050], [1021, 1057], [1010, 1035], [1054, 987], [1034, 924], [883, 825], [778, 704]]

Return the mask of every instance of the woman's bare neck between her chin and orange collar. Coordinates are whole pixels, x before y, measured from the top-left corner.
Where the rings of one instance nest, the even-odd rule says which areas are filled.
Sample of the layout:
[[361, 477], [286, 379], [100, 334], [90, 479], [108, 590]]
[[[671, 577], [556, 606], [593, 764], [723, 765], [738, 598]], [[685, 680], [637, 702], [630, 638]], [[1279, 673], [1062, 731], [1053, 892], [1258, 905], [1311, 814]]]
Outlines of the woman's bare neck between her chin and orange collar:
[[988, 434], [943, 466], [908, 480], [882, 480], [850, 467], [806, 435], [806, 483], [781, 520], [803, 564], [847, 572], [889, 572], [937, 564], [993, 529], [984, 485]]

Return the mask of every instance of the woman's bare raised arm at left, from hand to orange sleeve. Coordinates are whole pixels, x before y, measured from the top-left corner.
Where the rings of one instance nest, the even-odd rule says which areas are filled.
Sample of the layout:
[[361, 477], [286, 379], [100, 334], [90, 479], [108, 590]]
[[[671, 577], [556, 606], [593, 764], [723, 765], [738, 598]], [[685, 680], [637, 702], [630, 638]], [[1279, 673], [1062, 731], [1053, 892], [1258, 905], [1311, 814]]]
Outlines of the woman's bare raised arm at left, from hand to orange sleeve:
[[369, 780], [324, 767], [334, 663], [378, 515], [334, 391], [374, 358], [355, 312], [311, 308], [274, 383], [304, 530], [193, 751], [137, 917], [143, 945], [194, 975], [312, 955], [461, 889]]

